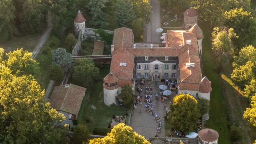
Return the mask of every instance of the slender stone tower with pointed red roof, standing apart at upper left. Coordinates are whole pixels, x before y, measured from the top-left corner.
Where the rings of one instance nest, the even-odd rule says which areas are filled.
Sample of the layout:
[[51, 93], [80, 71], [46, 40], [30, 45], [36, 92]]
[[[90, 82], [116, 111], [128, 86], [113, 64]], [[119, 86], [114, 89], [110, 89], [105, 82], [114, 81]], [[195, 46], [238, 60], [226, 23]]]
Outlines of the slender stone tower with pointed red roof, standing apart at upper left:
[[76, 32], [80, 31], [81, 34], [83, 35], [83, 39], [84, 39], [84, 33], [85, 33], [85, 21], [86, 19], [82, 15], [81, 11], [78, 10], [76, 14], [76, 18], [74, 19], [75, 31]]

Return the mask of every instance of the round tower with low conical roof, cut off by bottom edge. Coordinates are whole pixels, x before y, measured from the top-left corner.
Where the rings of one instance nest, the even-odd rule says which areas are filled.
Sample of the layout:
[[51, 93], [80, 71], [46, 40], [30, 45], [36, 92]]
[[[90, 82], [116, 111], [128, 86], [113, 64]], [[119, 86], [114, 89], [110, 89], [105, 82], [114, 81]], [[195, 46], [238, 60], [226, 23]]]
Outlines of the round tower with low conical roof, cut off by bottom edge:
[[210, 128], [198, 132], [198, 144], [218, 144], [219, 133]]

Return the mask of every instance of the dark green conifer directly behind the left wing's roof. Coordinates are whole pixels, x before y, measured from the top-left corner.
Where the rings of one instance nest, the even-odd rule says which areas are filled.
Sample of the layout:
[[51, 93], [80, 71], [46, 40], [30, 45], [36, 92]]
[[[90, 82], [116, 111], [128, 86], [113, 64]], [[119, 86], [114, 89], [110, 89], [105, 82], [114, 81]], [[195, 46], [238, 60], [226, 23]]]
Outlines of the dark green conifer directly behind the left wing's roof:
[[132, 27], [132, 21], [135, 19], [135, 13], [130, 0], [118, 0], [116, 3], [115, 13], [117, 28]]

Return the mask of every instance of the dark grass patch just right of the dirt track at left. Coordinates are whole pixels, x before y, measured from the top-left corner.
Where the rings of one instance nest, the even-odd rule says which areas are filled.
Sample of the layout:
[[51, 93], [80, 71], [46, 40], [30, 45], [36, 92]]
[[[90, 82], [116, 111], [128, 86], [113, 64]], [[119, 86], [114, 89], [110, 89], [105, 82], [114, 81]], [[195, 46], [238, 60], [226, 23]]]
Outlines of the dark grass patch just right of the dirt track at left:
[[52, 64], [52, 50], [60, 46], [60, 40], [51, 34], [40, 50], [36, 61], [39, 62], [39, 74], [36, 76], [42, 89], [46, 89], [50, 81], [50, 66]]

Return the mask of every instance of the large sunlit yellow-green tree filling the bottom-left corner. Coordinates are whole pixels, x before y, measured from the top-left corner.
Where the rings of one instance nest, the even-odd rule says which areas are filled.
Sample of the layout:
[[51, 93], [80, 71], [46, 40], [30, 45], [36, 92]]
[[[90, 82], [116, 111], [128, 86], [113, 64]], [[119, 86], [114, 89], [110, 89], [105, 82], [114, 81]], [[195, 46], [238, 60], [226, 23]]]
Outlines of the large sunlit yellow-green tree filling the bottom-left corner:
[[16, 77], [2, 64], [0, 81], [0, 143], [67, 143], [68, 130], [54, 126], [65, 117], [44, 101], [44, 90], [32, 76]]

